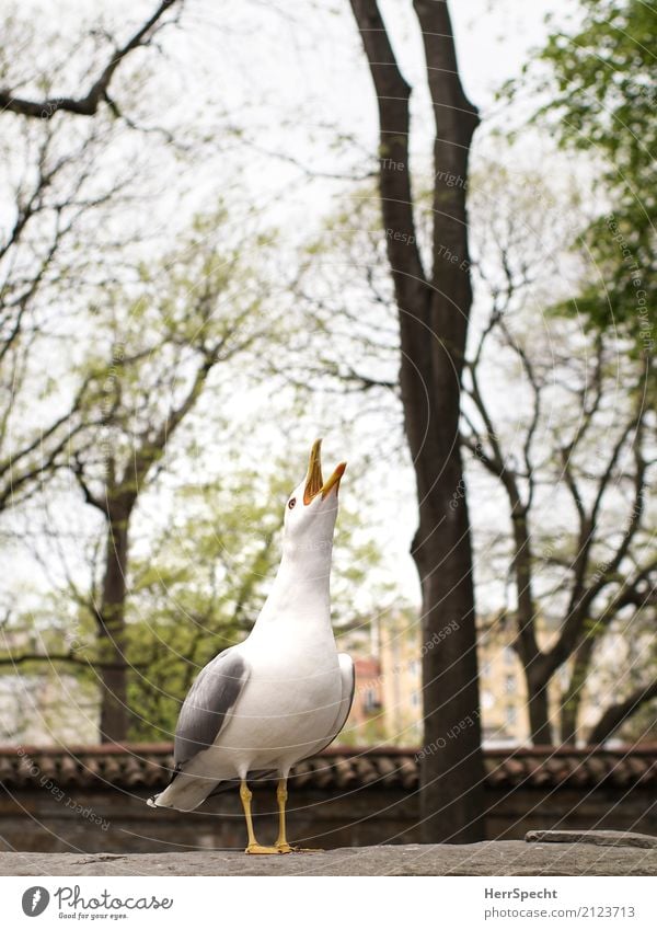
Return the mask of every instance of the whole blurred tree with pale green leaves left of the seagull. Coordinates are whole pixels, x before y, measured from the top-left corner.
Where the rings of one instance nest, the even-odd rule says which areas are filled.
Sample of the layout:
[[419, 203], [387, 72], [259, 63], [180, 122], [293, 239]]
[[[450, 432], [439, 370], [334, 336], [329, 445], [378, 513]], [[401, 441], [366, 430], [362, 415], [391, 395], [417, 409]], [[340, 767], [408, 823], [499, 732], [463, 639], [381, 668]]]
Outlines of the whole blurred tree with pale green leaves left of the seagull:
[[274, 338], [275, 315], [261, 310], [265, 285], [242, 259], [244, 242], [226, 243], [226, 222], [224, 211], [198, 219], [180, 251], [140, 266], [132, 296], [117, 288], [95, 312], [97, 352], [84, 368], [88, 428], [80, 447], [73, 444], [71, 468], [105, 524], [101, 576], [90, 596], [77, 594], [96, 623], [103, 740], [123, 740], [128, 730], [129, 536], [140, 496], [214, 370], [238, 356], [247, 368], [263, 340], [270, 346]]

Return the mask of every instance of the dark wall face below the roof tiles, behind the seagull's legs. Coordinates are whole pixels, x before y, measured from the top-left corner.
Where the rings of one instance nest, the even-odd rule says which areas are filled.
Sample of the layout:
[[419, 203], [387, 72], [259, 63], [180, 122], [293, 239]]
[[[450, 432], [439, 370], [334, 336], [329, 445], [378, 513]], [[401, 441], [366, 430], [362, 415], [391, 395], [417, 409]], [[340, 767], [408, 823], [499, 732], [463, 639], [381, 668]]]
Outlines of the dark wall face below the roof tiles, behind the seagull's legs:
[[[67, 789], [3, 792], [0, 849], [34, 852], [184, 852], [239, 849], [245, 830], [237, 791], [181, 814], [146, 804], [149, 791]], [[272, 785], [255, 787], [256, 833], [275, 838]], [[486, 789], [488, 839], [522, 839], [530, 829], [615, 829], [657, 836], [653, 789]], [[336, 849], [419, 840], [417, 794], [360, 787], [350, 792], [290, 791], [289, 836]]]

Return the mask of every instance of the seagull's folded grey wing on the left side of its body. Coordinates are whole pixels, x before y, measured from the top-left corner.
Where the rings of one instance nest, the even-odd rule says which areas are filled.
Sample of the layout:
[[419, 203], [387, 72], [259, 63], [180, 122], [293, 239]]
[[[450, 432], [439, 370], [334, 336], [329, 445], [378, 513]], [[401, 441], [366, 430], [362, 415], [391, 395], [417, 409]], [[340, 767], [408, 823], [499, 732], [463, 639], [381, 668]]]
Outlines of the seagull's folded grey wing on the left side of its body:
[[246, 662], [234, 647], [219, 653], [201, 669], [185, 698], [175, 728], [176, 769], [212, 745], [249, 674]]

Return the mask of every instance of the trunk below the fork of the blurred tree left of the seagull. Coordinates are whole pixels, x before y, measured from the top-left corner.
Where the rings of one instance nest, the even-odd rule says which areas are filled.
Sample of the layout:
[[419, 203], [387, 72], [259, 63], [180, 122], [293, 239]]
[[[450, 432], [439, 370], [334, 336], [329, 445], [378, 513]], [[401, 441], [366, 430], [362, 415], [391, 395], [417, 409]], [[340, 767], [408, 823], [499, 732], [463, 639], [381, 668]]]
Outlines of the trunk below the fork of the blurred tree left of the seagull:
[[111, 506], [105, 576], [97, 615], [102, 743], [124, 743], [128, 731], [125, 616], [129, 517], [130, 508], [127, 505]]

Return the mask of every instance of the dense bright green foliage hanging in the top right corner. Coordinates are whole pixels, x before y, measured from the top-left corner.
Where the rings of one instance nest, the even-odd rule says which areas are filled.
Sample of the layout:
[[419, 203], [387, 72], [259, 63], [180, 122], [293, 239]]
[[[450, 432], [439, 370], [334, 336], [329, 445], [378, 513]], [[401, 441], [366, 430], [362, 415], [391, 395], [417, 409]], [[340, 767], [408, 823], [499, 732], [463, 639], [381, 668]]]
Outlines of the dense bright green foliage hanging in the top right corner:
[[[598, 328], [618, 326], [654, 348], [649, 308], [657, 298], [652, 152], [657, 145], [654, 36], [657, 7], [642, 0], [581, 0], [572, 34], [552, 34], [539, 55], [550, 94], [537, 118], [565, 148], [600, 163], [603, 214], [584, 245], [595, 262], [573, 307]], [[526, 72], [529, 69], [526, 69]]]

